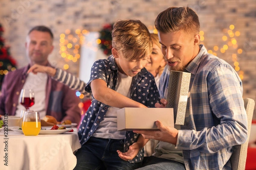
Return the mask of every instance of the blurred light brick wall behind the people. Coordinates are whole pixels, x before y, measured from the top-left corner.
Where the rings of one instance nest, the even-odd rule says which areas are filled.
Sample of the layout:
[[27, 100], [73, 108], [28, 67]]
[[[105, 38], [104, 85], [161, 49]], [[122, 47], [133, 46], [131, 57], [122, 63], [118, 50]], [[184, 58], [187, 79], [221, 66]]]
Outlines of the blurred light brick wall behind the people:
[[[50, 62], [60, 68], [68, 64], [68, 71], [78, 75], [79, 60], [68, 61], [59, 54], [61, 33], [78, 28], [99, 31], [105, 23], [118, 19], [139, 19], [153, 29], [157, 14], [169, 6], [189, 6], [197, 11], [204, 31], [202, 43], [231, 65], [238, 62], [238, 73], [243, 75], [244, 97], [256, 100], [256, 0], [1, 0], [0, 23], [5, 28], [6, 45], [11, 46], [18, 67], [28, 62], [24, 49], [27, 32], [43, 24], [55, 35], [55, 50], [49, 57]], [[228, 46], [221, 53], [220, 48], [232, 38], [227, 33], [230, 25], [235, 26], [233, 33], [240, 33], [234, 36], [237, 47]], [[223, 36], [228, 40], [223, 41]], [[215, 45], [218, 51], [214, 50]], [[239, 48], [241, 54], [237, 52]], [[233, 54], [237, 57], [232, 57]], [[256, 113], [254, 115], [256, 119]]]

